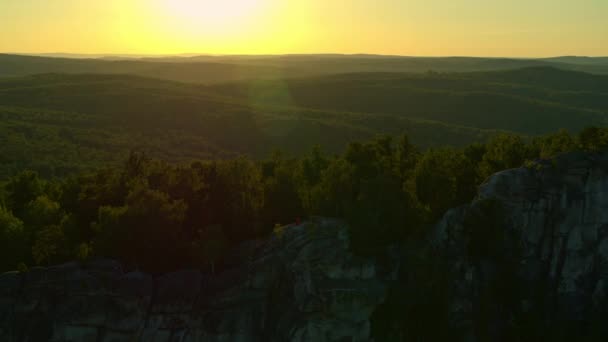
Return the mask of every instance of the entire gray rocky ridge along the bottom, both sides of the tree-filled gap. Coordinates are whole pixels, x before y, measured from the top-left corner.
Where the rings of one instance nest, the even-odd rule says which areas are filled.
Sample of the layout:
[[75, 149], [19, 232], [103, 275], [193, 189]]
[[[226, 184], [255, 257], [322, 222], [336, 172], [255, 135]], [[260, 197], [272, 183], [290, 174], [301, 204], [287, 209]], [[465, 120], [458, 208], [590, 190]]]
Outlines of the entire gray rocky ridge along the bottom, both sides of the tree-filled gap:
[[[608, 154], [498, 173], [431, 237], [453, 340], [608, 337]], [[348, 247], [342, 223], [319, 219], [239, 246], [217, 275], [152, 277], [103, 260], [6, 273], [0, 340], [371, 341], [398, 277]], [[404, 288], [426, 286], [410, 278]]]

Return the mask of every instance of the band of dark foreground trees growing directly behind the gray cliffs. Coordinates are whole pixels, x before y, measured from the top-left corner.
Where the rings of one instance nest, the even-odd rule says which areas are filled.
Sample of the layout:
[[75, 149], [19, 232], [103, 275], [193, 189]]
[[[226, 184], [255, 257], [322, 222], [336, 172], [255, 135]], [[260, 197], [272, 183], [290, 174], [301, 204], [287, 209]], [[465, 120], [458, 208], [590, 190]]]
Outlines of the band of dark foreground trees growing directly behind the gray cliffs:
[[497, 171], [606, 147], [608, 130], [599, 128], [426, 150], [407, 136], [381, 136], [339, 155], [316, 147], [301, 157], [174, 164], [133, 152], [120, 167], [61, 179], [22, 171], [0, 188], [0, 270], [104, 256], [155, 273], [216, 272], [234, 244], [316, 215], [344, 218], [354, 251], [378, 256], [422, 241]]

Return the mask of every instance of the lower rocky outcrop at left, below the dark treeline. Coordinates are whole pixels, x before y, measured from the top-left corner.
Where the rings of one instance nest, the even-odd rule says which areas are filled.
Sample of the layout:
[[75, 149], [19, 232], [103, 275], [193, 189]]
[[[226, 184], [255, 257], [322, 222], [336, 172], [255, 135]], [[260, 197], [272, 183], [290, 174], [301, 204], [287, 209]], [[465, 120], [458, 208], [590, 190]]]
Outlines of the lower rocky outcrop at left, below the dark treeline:
[[368, 341], [385, 296], [344, 225], [244, 244], [225, 271], [160, 277], [91, 261], [0, 275], [2, 341]]

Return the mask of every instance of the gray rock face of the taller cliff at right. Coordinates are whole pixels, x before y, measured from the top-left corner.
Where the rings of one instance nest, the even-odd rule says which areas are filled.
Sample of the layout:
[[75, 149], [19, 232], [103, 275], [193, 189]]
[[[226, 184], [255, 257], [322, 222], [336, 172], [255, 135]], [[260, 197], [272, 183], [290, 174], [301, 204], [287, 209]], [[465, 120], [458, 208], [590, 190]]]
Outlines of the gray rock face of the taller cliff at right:
[[[466, 218], [489, 199], [503, 208], [496, 224], [509, 238], [502, 240], [498, 252], [510, 256], [510, 262], [474, 258], [467, 252], [471, 241]], [[434, 239], [437, 253], [449, 260], [454, 279], [454, 326], [473, 331], [485, 315], [483, 324], [500, 336], [508, 325], [521, 323], [517, 317], [575, 327], [604, 319], [608, 154], [570, 153], [538, 167], [498, 173], [482, 185], [471, 205], [444, 216]], [[502, 290], [496, 290], [497, 285]], [[488, 305], [490, 292], [494, 299]], [[511, 305], [496, 300], [497, 294], [507, 296], [505, 302]]]

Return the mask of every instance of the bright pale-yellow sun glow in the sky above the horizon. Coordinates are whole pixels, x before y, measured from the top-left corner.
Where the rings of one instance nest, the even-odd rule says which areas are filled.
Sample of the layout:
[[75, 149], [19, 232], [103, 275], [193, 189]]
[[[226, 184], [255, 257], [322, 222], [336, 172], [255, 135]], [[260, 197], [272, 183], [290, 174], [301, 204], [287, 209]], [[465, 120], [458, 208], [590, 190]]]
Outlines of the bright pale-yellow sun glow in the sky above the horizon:
[[121, 31], [137, 28], [125, 42], [143, 51], [272, 53], [290, 48], [314, 27], [309, 0], [137, 1], [137, 22]]

